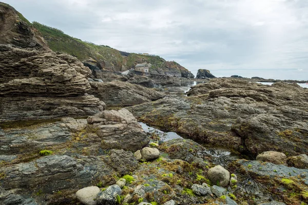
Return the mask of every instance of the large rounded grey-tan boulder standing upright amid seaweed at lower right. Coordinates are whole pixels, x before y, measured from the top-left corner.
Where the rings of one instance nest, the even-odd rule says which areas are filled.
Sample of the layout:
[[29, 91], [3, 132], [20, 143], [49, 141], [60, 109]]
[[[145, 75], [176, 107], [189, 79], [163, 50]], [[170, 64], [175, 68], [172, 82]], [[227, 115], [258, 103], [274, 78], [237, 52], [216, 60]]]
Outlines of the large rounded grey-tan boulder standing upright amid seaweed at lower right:
[[219, 184], [219, 186], [225, 187], [229, 184], [230, 173], [220, 165], [209, 169], [207, 175], [214, 185]]

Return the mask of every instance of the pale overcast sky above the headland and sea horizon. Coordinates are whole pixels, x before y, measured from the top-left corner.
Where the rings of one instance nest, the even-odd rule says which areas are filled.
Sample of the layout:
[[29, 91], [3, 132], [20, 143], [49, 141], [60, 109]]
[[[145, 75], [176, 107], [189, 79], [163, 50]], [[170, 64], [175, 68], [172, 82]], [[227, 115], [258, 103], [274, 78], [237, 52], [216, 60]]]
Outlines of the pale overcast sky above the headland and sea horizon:
[[[1, 0], [0, 0], [1, 1]], [[307, 0], [6, 0], [30, 22], [196, 75], [308, 80]]]

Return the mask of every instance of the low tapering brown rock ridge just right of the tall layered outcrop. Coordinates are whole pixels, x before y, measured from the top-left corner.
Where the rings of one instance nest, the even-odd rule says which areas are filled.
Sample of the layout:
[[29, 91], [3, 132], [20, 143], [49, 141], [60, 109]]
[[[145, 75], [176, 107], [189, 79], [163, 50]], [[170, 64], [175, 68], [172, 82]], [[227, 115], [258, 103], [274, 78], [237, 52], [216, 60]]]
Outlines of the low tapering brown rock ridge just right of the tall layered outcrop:
[[90, 85], [89, 93], [103, 100], [107, 106], [132, 106], [164, 97], [156, 90], [122, 81], [90, 82]]

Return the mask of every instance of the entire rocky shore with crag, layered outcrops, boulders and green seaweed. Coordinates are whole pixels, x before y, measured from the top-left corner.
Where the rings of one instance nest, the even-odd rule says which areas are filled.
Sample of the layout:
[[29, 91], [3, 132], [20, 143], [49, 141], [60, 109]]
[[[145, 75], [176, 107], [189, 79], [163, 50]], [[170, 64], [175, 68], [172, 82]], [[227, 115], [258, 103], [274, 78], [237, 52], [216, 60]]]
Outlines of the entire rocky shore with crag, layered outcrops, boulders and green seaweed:
[[165, 88], [187, 79], [95, 74], [93, 61], [51, 51], [9, 5], [0, 16], [10, 28], [0, 35], [0, 204], [308, 204], [308, 89], [214, 78], [171, 96]]

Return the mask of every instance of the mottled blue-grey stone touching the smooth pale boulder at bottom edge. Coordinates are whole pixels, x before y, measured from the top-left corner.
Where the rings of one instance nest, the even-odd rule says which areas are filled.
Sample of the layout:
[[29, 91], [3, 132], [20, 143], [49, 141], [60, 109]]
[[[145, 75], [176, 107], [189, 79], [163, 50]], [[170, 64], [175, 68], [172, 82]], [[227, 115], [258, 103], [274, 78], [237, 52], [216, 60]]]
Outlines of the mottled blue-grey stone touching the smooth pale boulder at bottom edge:
[[97, 195], [98, 204], [115, 205], [117, 204], [117, 196], [121, 195], [122, 190], [118, 185], [111, 185], [105, 191], [99, 192]]

